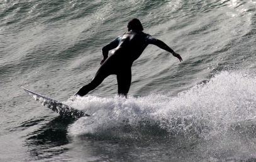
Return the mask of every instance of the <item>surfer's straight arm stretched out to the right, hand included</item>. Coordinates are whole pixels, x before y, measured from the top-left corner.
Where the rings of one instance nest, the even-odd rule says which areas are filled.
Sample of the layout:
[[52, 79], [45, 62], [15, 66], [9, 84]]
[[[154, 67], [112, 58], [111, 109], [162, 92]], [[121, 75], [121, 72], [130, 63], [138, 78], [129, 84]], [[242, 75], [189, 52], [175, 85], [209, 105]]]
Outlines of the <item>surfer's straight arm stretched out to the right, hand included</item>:
[[155, 39], [152, 36], [148, 36], [147, 38], [148, 44], [153, 44], [155, 46], [158, 46], [161, 49], [164, 49], [165, 51], [168, 51], [169, 53], [172, 53], [172, 55], [179, 59], [179, 61], [182, 61], [182, 58], [179, 54], [175, 53], [174, 50], [172, 50], [167, 44], [165, 44], [163, 41], [159, 39]]

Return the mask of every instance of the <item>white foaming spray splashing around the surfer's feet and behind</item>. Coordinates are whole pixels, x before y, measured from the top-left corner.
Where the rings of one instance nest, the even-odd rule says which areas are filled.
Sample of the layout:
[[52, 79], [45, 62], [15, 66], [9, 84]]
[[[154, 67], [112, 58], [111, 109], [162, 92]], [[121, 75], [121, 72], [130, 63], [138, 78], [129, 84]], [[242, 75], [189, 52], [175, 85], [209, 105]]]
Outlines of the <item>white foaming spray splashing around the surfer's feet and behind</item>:
[[164, 134], [165, 138], [211, 139], [232, 130], [245, 130], [248, 121], [250, 128], [255, 123], [255, 81], [255, 76], [249, 74], [223, 71], [208, 83], [198, 84], [175, 97], [150, 94], [129, 99], [77, 98], [67, 104], [86, 110], [91, 117], [72, 124], [69, 135], [157, 138]]

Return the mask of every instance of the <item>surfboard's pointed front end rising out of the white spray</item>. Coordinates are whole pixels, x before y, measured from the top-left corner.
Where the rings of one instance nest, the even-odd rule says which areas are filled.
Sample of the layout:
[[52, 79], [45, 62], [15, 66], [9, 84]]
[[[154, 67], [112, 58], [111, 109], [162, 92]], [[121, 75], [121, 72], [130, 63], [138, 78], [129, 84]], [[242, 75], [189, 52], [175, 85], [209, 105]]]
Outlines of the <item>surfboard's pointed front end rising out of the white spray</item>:
[[[23, 88], [23, 87], [22, 87]], [[47, 96], [43, 96], [42, 94], [35, 93], [30, 91], [26, 88], [23, 88], [26, 93], [28, 93], [32, 98], [34, 98], [38, 103], [43, 104], [43, 106], [47, 107], [48, 109], [52, 109], [56, 113], [60, 114], [65, 118], [81, 118], [82, 116], [89, 116], [89, 114], [84, 113], [78, 109], [74, 109], [67, 104], [61, 103], [52, 98], [48, 98]]]

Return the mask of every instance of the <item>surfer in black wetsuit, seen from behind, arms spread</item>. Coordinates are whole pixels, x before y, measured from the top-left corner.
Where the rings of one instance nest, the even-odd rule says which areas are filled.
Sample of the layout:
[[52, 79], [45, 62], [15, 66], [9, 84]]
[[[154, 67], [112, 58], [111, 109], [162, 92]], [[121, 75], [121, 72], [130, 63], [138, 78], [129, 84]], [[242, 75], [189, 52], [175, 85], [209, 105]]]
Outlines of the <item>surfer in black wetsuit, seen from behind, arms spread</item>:
[[[89, 91], [99, 86], [109, 75], [115, 74], [118, 82], [118, 96], [125, 96], [127, 98], [131, 85], [131, 66], [133, 61], [140, 57], [148, 44], [154, 44], [172, 53], [179, 61], [182, 61], [181, 56], [175, 53], [164, 42], [153, 38], [149, 34], [143, 33], [142, 23], [138, 19], [131, 19], [127, 28], [128, 32], [118, 36], [114, 41], [103, 47], [101, 67], [98, 69], [91, 83], [82, 86], [75, 96], [86, 95]], [[113, 49], [111, 56], [108, 56], [108, 52], [111, 49]]]

